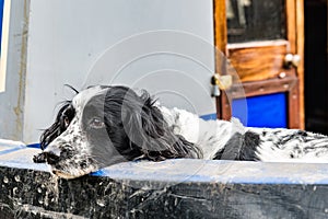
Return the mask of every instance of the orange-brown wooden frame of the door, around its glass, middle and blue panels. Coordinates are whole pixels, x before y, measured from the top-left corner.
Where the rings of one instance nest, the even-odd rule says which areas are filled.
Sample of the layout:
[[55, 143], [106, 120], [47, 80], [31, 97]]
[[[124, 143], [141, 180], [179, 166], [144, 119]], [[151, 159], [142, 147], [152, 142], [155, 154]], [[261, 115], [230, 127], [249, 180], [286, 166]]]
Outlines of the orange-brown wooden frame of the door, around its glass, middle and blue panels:
[[[223, 53], [227, 59], [230, 49], [236, 47], [236, 44], [227, 43], [227, 22], [226, 22], [226, 1], [214, 0], [214, 45], [219, 53]], [[297, 54], [301, 62], [296, 68], [296, 76], [286, 70], [288, 76], [283, 79], [270, 79], [262, 81], [246, 81], [243, 83], [246, 97], [269, 94], [277, 92], [286, 92], [288, 94], [288, 124], [289, 128], [304, 129], [304, 0], [285, 0], [286, 10], [286, 39], [290, 42], [289, 51]], [[274, 43], [274, 42], [272, 42]], [[243, 43], [243, 46], [255, 43]], [[215, 72], [226, 74], [226, 60], [215, 55]], [[295, 73], [294, 73], [295, 74]], [[237, 91], [241, 84], [233, 84], [231, 99], [241, 97]], [[257, 89], [257, 90], [256, 90]], [[235, 94], [233, 94], [235, 93]], [[231, 118], [231, 100], [225, 92], [216, 99], [218, 117], [221, 119]], [[298, 113], [295, 113], [298, 112]]]

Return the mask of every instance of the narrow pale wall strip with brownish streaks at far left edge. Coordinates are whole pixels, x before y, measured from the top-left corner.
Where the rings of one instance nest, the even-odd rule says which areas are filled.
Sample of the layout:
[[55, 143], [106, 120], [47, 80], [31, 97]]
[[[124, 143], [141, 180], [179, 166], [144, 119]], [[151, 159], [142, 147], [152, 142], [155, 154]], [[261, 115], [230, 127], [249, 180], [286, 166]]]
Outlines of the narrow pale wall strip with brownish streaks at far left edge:
[[22, 140], [24, 132], [28, 5], [28, 0], [4, 1], [10, 13], [5, 12], [9, 18], [4, 22], [8, 21], [9, 26], [2, 37], [2, 43], [7, 43], [2, 44], [2, 49], [8, 49], [1, 50], [1, 70], [5, 71], [1, 73], [5, 73], [5, 84], [4, 91], [0, 92], [0, 138], [12, 140]]

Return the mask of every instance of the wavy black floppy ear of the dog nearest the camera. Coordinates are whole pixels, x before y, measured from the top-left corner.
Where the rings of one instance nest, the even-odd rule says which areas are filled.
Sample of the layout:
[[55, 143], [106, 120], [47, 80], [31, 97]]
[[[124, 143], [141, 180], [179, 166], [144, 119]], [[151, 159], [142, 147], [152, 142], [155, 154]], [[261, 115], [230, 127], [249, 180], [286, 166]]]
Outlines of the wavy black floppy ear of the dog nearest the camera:
[[134, 149], [138, 147], [144, 158], [159, 161], [201, 157], [194, 143], [173, 132], [145, 91], [140, 96], [131, 90], [126, 93], [121, 118], [131, 145]]

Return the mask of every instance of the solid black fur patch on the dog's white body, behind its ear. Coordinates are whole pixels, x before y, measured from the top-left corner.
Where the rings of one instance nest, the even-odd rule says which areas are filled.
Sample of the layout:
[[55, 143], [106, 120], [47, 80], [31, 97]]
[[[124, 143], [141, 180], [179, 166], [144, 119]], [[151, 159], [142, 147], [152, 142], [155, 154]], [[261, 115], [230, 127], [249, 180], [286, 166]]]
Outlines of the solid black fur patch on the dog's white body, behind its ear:
[[259, 135], [247, 131], [244, 135], [236, 132], [224, 146], [224, 149], [218, 151], [214, 160], [239, 160], [256, 161], [256, 148], [260, 145]]

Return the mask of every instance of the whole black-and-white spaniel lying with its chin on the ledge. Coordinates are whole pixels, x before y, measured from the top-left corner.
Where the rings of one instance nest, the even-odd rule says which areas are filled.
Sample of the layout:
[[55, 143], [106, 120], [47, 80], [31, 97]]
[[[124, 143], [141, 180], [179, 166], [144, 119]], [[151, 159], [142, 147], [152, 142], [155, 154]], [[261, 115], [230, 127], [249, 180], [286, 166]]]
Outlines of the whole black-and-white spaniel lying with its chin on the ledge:
[[237, 118], [203, 120], [122, 85], [90, 87], [66, 102], [40, 148], [34, 162], [47, 162], [63, 178], [143, 159], [328, 162], [327, 136], [244, 127]]

